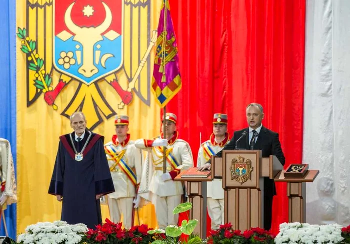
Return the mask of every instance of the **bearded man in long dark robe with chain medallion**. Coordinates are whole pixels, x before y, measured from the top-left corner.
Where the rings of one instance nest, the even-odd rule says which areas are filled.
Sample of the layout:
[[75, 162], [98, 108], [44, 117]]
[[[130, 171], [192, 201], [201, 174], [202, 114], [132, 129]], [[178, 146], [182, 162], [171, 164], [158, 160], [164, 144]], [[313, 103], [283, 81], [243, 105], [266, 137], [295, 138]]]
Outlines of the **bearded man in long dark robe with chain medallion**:
[[59, 137], [49, 194], [62, 201], [61, 220], [94, 228], [102, 223], [100, 197], [114, 192], [104, 137], [86, 129], [82, 112], [70, 117], [74, 129]]

